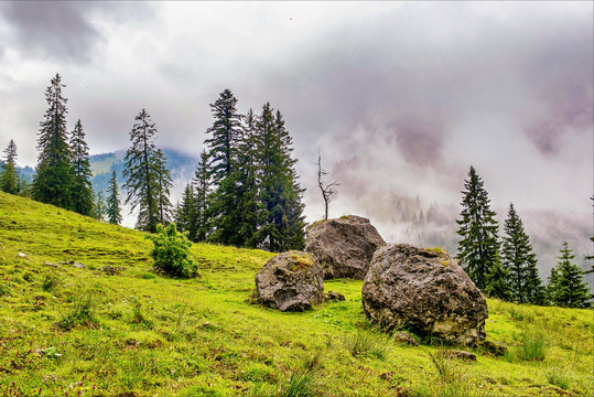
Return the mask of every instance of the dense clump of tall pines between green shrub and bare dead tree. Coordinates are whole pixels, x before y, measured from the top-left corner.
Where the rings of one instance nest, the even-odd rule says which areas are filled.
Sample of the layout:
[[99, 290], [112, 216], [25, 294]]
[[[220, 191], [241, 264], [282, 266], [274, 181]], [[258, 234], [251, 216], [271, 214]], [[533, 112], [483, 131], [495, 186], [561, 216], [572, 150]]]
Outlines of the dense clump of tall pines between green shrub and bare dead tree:
[[210, 104], [195, 176], [174, 211], [194, 242], [271, 251], [304, 247], [302, 194], [293, 143], [282, 114], [269, 103], [260, 114], [237, 111], [229, 89]]

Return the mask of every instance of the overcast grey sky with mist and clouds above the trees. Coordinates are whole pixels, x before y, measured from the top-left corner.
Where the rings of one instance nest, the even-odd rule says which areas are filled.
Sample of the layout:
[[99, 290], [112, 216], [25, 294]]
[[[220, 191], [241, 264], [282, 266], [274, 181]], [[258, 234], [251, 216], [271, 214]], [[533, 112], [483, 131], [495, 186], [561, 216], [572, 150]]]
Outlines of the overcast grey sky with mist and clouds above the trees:
[[321, 148], [331, 215], [388, 235], [396, 200], [458, 210], [471, 164], [503, 216], [514, 202], [587, 228], [593, 18], [590, 1], [1, 2], [0, 148], [35, 164], [56, 73], [94, 153], [126, 149], [147, 108], [160, 146], [197, 157], [229, 88], [241, 112], [284, 115], [310, 222]]

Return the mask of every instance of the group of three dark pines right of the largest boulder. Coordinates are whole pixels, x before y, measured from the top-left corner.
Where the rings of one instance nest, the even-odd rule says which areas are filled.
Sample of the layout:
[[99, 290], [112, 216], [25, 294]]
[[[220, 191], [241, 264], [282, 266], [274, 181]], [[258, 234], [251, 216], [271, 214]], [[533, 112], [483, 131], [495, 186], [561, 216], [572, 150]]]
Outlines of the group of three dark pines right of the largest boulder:
[[590, 307], [592, 296], [583, 270], [573, 264], [575, 256], [566, 242], [544, 287], [530, 238], [514, 204], [509, 204], [504, 237], [499, 239], [496, 213], [490, 210], [484, 182], [473, 167], [464, 189], [461, 219], [456, 221], [457, 234], [462, 236], [456, 258], [479, 289], [489, 297], [518, 303]]

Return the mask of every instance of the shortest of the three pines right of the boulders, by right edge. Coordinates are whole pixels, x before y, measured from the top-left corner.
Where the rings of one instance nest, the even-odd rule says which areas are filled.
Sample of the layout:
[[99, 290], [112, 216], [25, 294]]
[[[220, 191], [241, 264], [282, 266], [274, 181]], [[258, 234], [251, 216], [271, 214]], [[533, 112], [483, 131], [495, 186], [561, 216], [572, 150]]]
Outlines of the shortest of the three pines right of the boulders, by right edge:
[[587, 308], [590, 303], [590, 292], [587, 285], [583, 280], [583, 270], [572, 262], [575, 258], [573, 250], [569, 248], [568, 242], [563, 242], [563, 247], [559, 251], [557, 267], [551, 270], [548, 292], [550, 301], [564, 308]]

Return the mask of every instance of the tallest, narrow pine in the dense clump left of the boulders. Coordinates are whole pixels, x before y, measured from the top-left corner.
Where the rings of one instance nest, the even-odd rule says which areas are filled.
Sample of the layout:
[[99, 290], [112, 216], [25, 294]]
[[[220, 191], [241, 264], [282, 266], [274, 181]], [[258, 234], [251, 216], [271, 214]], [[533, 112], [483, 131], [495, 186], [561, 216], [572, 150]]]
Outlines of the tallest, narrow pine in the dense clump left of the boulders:
[[241, 245], [238, 239], [240, 213], [237, 192], [237, 148], [241, 116], [236, 109], [237, 99], [229, 89], [220, 93], [210, 104], [215, 118], [207, 129], [210, 138], [205, 140], [208, 150], [208, 172], [213, 193], [208, 195], [208, 240], [225, 245]]

